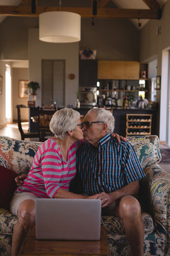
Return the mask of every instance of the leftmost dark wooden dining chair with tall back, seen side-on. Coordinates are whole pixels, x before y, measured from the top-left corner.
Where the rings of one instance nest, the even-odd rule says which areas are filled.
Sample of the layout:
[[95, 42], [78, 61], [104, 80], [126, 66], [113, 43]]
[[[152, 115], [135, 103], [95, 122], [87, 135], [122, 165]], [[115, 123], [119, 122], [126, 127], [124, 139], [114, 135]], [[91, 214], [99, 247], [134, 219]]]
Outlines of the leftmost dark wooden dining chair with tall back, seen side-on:
[[24, 140], [26, 138], [38, 138], [39, 132], [23, 132], [22, 121], [21, 121], [21, 108], [26, 107], [25, 105], [16, 105], [17, 113], [18, 113], [18, 129], [21, 133], [21, 139]]

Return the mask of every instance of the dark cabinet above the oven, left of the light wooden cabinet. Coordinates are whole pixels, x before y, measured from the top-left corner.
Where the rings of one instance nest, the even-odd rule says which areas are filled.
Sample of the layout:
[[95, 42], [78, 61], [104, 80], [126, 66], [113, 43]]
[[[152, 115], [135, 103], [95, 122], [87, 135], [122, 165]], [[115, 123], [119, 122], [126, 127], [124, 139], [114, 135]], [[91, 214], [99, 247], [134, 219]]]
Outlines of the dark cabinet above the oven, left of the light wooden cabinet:
[[98, 73], [97, 60], [79, 60], [79, 86], [96, 87]]

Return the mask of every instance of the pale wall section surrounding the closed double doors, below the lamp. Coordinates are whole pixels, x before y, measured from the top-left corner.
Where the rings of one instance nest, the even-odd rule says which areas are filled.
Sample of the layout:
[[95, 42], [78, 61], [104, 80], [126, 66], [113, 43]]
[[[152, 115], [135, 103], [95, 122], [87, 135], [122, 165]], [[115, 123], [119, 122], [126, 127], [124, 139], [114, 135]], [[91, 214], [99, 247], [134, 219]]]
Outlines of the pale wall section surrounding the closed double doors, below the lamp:
[[[39, 40], [39, 30], [30, 28], [28, 32], [29, 80], [39, 82], [35, 105], [41, 105], [41, 61], [65, 60], [65, 105], [75, 105], [79, 86], [79, 43], [45, 43]], [[69, 74], [74, 74], [74, 80]]]

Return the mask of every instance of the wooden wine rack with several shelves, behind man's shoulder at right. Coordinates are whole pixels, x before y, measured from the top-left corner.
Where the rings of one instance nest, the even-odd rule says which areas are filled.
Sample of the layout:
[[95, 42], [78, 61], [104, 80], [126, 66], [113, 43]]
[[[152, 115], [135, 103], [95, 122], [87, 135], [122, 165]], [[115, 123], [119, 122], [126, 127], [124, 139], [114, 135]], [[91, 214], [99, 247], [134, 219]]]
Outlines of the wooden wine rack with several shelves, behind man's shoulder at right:
[[151, 135], [152, 114], [126, 114], [126, 136]]

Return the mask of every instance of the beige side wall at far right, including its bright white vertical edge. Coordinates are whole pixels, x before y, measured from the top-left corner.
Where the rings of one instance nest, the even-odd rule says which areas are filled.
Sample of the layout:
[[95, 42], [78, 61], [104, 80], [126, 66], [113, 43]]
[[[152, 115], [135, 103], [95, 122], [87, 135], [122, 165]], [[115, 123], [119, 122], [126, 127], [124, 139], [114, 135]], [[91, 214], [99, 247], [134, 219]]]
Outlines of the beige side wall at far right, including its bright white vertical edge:
[[[168, 134], [168, 69], [167, 55], [170, 48], [170, 0], [162, 8], [160, 20], [149, 21], [140, 32], [140, 62], [157, 59], [157, 75], [162, 76], [161, 90], [157, 90], [157, 102], [159, 102], [159, 140], [167, 142]], [[161, 33], [157, 35], [157, 28]], [[160, 120], [160, 121], [159, 121]]]

